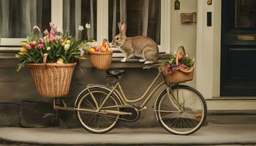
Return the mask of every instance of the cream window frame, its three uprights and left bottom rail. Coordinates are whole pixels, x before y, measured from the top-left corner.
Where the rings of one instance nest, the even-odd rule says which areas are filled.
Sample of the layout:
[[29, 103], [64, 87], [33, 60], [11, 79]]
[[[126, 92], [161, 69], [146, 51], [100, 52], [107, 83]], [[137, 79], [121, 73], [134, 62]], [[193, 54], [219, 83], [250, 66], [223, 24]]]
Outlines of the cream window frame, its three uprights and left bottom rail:
[[[165, 15], [162, 15], [165, 14]], [[62, 29], [63, 0], [51, 0], [51, 22]], [[108, 38], [108, 0], [97, 1], [97, 40]], [[0, 47], [19, 46], [26, 38], [0, 38]], [[98, 45], [101, 42], [97, 42]], [[159, 52], [170, 53], [170, 0], [161, 0], [161, 30]], [[17, 49], [17, 47], [15, 47]], [[13, 48], [13, 49], [15, 49]], [[113, 50], [117, 50], [114, 48]], [[121, 56], [115, 55], [114, 56]]]

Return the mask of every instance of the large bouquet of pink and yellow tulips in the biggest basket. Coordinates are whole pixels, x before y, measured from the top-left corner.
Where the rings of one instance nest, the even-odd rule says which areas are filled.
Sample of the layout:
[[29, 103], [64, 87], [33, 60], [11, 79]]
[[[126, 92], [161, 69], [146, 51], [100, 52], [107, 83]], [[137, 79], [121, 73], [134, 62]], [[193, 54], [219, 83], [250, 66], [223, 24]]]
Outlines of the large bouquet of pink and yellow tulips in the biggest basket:
[[[79, 30], [83, 31], [80, 27]], [[86, 26], [86, 28], [90, 27]], [[15, 55], [15, 58], [19, 59], [18, 71], [26, 64], [42, 64], [45, 55], [47, 55], [46, 63], [48, 64], [75, 63], [83, 59], [83, 49], [89, 47], [87, 42], [92, 40], [77, 41], [69, 36], [67, 31], [63, 33], [54, 23], [50, 23], [50, 32], [45, 29], [42, 33], [38, 26], [34, 26], [31, 36], [21, 43], [20, 52]]]

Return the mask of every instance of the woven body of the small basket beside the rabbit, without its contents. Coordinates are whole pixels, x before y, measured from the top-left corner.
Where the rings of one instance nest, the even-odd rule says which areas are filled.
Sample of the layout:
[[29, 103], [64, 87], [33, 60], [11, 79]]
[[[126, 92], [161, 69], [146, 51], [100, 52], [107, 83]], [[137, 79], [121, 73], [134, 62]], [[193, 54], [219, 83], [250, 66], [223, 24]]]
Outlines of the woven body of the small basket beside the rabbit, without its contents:
[[92, 66], [97, 69], [109, 69], [112, 62], [112, 52], [110, 53], [90, 53]]

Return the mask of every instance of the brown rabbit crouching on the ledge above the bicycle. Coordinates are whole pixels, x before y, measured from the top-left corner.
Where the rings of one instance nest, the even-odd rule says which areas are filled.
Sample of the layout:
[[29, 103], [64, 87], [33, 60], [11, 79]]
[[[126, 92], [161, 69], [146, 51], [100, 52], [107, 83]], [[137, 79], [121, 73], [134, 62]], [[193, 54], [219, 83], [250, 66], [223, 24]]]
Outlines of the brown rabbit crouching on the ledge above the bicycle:
[[141, 58], [139, 61], [144, 64], [153, 64], [158, 61], [159, 48], [153, 39], [145, 36], [127, 37], [127, 25], [118, 23], [120, 34], [113, 37], [112, 45], [118, 47], [124, 58], [121, 62], [127, 61], [132, 56]]

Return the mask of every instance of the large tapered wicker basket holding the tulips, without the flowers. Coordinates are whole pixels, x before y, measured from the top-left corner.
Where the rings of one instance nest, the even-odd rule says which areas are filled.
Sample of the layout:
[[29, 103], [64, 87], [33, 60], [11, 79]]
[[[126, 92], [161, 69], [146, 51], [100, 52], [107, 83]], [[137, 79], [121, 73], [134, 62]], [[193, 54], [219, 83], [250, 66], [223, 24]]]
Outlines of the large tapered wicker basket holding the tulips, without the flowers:
[[69, 93], [75, 66], [76, 63], [28, 64], [38, 93], [49, 98], [66, 96]]

